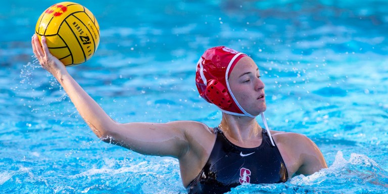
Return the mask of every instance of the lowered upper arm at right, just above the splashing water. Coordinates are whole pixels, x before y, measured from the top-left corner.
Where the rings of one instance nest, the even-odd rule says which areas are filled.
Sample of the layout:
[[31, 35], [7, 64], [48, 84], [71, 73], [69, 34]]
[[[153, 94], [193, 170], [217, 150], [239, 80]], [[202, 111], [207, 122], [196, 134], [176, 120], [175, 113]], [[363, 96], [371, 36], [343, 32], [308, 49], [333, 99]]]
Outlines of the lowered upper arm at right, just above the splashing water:
[[301, 166], [298, 169], [298, 174], [311, 175], [327, 168], [326, 161], [317, 147], [317, 145], [307, 136], [299, 134], [299, 145], [296, 146], [299, 150]]

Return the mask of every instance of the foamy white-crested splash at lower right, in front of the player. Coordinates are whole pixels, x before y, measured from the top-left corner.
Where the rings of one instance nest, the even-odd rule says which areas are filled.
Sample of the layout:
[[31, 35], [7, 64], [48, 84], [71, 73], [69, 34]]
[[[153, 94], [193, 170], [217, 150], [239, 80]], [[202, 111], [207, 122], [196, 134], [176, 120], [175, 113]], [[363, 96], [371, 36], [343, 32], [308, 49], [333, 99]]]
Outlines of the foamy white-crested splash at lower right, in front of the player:
[[334, 163], [310, 176], [299, 175], [285, 183], [246, 184], [230, 193], [384, 193], [388, 172], [365, 155], [351, 154], [349, 161], [339, 151]]

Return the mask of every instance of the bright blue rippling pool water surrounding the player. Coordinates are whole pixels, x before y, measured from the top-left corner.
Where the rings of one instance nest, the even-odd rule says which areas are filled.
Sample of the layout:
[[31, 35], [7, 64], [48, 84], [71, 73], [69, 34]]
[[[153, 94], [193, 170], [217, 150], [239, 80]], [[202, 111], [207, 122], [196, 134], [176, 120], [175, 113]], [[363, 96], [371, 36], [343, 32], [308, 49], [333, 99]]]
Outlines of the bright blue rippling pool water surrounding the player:
[[[99, 140], [36, 63], [30, 38], [54, 3], [0, 7], [0, 192], [184, 193], [177, 160]], [[101, 42], [68, 70], [119, 122], [216, 126], [220, 111], [195, 86], [199, 57], [227, 45], [256, 61], [269, 127], [310, 137], [329, 168], [231, 193], [388, 191], [388, 2], [77, 3], [95, 15]]]

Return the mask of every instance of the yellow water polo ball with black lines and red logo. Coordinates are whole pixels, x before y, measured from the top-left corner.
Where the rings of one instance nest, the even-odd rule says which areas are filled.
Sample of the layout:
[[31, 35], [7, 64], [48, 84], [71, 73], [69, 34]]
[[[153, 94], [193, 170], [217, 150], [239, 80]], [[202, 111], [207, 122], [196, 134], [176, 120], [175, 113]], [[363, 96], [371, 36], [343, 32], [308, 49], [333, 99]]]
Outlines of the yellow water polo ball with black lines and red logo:
[[82, 5], [62, 2], [40, 15], [35, 34], [44, 35], [50, 53], [64, 65], [74, 66], [90, 59], [100, 43], [100, 26]]

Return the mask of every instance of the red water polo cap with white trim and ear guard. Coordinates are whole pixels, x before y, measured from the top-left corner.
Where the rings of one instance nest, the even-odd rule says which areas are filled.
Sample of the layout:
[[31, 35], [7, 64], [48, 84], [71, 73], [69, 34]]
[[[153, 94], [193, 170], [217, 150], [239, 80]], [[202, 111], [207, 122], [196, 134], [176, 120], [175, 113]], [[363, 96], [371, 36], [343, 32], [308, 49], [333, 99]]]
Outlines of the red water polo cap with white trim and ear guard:
[[197, 64], [196, 85], [202, 98], [216, 105], [222, 112], [255, 118], [238, 104], [228, 82], [230, 72], [238, 60], [246, 56], [225, 46], [206, 50]]

